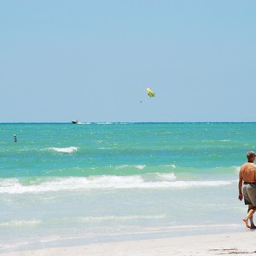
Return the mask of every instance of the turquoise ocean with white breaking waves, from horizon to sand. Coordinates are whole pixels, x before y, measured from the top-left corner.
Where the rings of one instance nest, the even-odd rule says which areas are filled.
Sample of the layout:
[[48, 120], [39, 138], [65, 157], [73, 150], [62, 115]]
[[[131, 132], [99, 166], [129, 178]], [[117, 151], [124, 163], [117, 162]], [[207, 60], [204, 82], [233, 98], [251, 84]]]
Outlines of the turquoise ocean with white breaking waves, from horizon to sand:
[[0, 124], [0, 253], [244, 231], [255, 136], [256, 123]]

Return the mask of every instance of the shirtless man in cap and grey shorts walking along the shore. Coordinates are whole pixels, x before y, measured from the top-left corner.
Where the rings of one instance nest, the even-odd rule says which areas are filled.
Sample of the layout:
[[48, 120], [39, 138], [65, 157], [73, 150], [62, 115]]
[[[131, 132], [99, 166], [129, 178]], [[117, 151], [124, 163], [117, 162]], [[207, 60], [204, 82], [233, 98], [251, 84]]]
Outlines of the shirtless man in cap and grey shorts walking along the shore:
[[[239, 195], [241, 201], [244, 197], [245, 205], [248, 205], [247, 216], [242, 219], [247, 228], [255, 229], [253, 224], [253, 214], [256, 211], [256, 165], [253, 163], [256, 155], [253, 151], [247, 152], [247, 163], [243, 164], [239, 172]], [[250, 219], [251, 225], [248, 224]]]

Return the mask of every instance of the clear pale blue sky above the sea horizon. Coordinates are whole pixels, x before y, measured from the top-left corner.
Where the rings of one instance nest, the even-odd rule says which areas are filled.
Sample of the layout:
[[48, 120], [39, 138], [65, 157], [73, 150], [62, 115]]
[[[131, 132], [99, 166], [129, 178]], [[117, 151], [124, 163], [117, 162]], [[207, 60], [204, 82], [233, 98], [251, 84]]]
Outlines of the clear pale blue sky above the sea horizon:
[[1, 1], [0, 122], [256, 121], [255, 11], [254, 0]]

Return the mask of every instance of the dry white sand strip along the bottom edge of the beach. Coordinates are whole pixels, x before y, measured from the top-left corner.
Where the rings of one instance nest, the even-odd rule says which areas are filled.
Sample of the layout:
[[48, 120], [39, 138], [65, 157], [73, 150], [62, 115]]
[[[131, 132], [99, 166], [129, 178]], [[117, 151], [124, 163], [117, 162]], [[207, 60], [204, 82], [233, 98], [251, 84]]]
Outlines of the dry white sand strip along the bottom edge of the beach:
[[26, 252], [2, 253], [5, 256], [154, 256], [154, 255], [256, 255], [256, 230], [206, 236], [181, 236], [142, 241], [119, 241], [79, 247], [60, 247]]

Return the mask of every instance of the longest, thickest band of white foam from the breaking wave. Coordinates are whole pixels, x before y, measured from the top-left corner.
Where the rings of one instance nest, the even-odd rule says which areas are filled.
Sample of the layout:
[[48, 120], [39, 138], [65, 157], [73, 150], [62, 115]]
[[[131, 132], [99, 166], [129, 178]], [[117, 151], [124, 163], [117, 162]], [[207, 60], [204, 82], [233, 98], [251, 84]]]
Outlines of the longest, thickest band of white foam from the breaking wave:
[[184, 181], [176, 180], [173, 173], [154, 174], [148, 180], [141, 175], [134, 176], [91, 176], [55, 177], [51, 181], [23, 185], [16, 178], [0, 180], [0, 194], [42, 193], [48, 191], [73, 191], [86, 189], [189, 189], [233, 185], [236, 180]]

